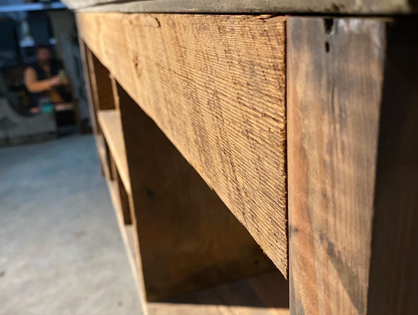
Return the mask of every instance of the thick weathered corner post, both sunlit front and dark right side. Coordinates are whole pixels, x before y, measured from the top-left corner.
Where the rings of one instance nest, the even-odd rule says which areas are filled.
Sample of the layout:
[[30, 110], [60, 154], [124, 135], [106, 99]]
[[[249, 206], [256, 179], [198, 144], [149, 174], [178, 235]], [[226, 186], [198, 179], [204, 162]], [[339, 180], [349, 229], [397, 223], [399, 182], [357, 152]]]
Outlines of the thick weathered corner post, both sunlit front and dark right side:
[[417, 312], [416, 38], [387, 22], [287, 20], [293, 314]]

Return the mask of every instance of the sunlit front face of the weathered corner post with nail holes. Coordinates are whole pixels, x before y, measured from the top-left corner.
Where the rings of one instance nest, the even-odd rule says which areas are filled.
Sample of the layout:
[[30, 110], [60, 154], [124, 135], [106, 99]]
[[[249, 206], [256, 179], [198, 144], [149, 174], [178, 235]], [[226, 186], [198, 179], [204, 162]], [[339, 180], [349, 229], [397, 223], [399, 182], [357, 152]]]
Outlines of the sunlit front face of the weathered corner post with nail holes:
[[385, 23], [289, 18], [287, 34], [291, 312], [365, 314]]

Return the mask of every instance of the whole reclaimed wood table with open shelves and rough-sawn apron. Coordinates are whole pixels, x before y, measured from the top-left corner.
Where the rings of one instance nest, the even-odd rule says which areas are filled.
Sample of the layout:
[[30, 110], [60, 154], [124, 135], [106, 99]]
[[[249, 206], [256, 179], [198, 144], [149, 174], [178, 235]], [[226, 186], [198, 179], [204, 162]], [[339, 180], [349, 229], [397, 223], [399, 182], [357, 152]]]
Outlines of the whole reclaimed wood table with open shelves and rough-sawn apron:
[[418, 314], [418, 3], [64, 2], [145, 313]]

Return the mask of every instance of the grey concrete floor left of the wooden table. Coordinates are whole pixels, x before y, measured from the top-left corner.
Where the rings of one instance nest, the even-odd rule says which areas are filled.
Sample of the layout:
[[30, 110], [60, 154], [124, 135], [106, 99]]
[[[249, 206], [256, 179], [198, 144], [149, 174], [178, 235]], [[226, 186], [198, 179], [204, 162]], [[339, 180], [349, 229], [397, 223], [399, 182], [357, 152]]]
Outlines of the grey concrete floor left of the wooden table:
[[92, 135], [0, 149], [0, 314], [138, 314]]

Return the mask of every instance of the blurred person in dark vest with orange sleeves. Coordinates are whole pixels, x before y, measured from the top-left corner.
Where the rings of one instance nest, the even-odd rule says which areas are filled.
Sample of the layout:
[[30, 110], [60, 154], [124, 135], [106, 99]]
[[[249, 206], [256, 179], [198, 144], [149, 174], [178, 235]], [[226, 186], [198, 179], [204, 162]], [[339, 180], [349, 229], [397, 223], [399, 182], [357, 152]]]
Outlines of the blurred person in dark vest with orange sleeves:
[[55, 104], [71, 102], [69, 82], [61, 61], [52, 58], [48, 46], [36, 48], [36, 61], [25, 69], [26, 89], [31, 93], [31, 112], [37, 112], [41, 99], [48, 98]]

